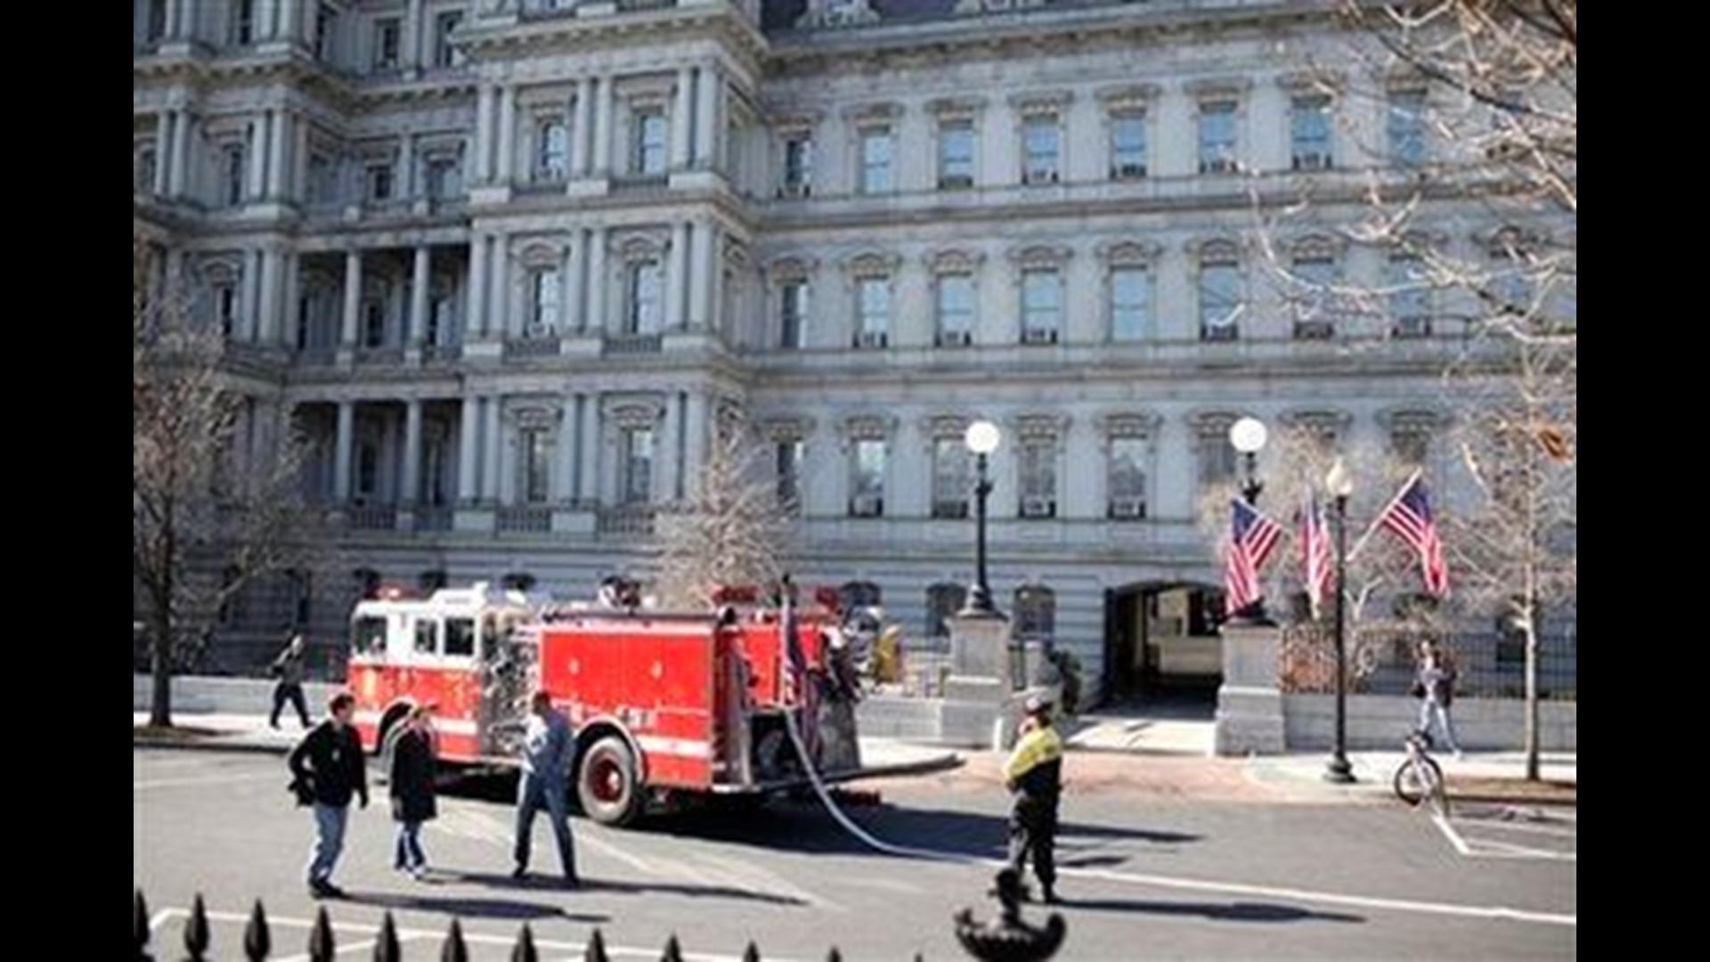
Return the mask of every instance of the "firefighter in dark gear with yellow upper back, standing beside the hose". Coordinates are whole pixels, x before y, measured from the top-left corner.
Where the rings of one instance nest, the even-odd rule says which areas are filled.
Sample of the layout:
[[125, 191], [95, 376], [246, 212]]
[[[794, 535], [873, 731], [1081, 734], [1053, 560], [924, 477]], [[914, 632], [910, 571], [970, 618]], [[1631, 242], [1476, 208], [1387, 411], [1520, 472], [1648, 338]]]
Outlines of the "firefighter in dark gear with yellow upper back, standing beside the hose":
[[1062, 794], [1064, 741], [1052, 727], [1052, 702], [1028, 695], [1016, 750], [1004, 763], [1009, 811], [1009, 868], [1023, 875], [1033, 858], [1047, 904], [1057, 904], [1057, 799]]

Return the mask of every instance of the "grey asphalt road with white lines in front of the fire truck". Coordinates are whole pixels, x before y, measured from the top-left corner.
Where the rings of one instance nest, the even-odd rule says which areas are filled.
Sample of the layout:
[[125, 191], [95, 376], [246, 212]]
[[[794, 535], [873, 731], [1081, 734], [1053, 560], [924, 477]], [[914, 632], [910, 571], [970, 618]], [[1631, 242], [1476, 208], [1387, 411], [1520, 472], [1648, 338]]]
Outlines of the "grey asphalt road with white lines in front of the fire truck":
[[[311, 820], [275, 757], [135, 750], [133, 883], [176, 950], [185, 911], [207, 897], [217, 959], [234, 959], [255, 899], [280, 959], [306, 945], [316, 909], [303, 885]], [[691, 959], [963, 959], [951, 914], [983, 899], [992, 870], [881, 856], [809, 805], [691, 813], [643, 830], [575, 820], [590, 885], [508, 878], [508, 786], [470, 781], [441, 798], [426, 882], [390, 871], [383, 791], [352, 815], [330, 902], [342, 957], [373, 953], [392, 911], [407, 959], [438, 959], [450, 917], [477, 960], [510, 957], [530, 923], [545, 959], [580, 959], [598, 926], [614, 959], [658, 959], [670, 933]], [[852, 811], [889, 842], [961, 859], [999, 858], [1004, 799], [942, 786], [887, 786]], [[1577, 811], [1469, 808], [1447, 823], [1400, 806], [1238, 805], [1132, 793], [1064, 806], [1060, 959], [1571, 959], [1577, 957]], [[552, 842], [537, 823], [535, 866]], [[1029, 919], [1038, 914], [1029, 911]]]

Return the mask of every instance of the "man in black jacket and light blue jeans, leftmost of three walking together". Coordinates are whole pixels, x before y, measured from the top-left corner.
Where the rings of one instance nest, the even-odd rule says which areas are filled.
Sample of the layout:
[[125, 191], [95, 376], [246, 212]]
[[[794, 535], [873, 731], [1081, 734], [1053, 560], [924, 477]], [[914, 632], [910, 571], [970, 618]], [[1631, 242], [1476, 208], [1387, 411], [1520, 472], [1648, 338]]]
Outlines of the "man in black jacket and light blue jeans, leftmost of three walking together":
[[298, 805], [315, 808], [315, 847], [310, 854], [310, 895], [316, 899], [342, 899], [344, 892], [332, 883], [332, 870], [344, 851], [344, 827], [351, 815], [351, 798], [368, 808], [368, 770], [363, 763], [363, 741], [351, 726], [356, 698], [339, 692], [327, 702], [327, 721], [315, 726], [291, 750], [291, 791]]

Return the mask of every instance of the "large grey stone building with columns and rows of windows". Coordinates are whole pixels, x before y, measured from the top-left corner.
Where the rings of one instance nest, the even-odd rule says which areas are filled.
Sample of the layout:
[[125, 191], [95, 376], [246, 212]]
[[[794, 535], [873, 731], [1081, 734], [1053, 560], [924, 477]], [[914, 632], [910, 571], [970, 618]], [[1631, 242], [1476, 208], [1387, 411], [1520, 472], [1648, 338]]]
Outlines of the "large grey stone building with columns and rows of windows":
[[[133, 228], [227, 332], [245, 443], [315, 440], [359, 565], [256, 585], [227, 657], [342, 637], [380, 580], [643, 572], [740, 411], [800, 580], [939, 633], [990, 418], [1019, 630], [1117, 692], [1214, 674], [1195, 517], [1235, 418], [1443, 455], [1454, 305], [1339, 310], [1277, 270], [1409, 277], [1337, 224], [1454, 161], [1332, 7], [133, 0]], [[1265, 257], [1255, 199], [1305, 192]], [[1501, 224], [1435, 204], [1483, 257]]]

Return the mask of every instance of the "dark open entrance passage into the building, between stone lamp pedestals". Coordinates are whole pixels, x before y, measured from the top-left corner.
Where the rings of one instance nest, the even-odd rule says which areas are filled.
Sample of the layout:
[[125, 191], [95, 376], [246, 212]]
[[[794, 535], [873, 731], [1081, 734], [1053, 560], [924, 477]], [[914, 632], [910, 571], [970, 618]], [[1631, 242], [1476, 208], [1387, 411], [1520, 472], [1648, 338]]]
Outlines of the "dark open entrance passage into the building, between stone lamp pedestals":
[[1223, 591], [1144, 582], [1105, 592], [1105, 666], [1113, 702], [1212, 704], [1223, 681]]

